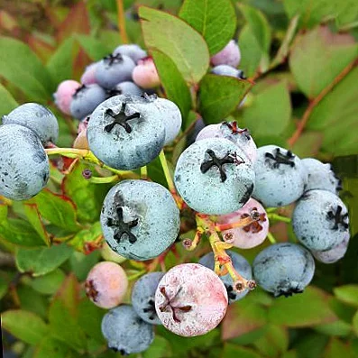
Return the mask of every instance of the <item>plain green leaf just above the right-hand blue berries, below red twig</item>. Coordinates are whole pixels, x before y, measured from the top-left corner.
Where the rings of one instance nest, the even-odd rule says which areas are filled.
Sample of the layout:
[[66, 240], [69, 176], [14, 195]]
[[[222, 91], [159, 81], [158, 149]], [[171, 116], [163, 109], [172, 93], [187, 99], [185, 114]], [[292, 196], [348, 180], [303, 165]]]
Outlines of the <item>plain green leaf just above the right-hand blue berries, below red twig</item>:
[[253, 138], [279, 136], [289, 125], [290, 116], [289, 89], [286, 82], [281, 81], [254, 96], [252, 106], [243, 110], [243, 123]]

